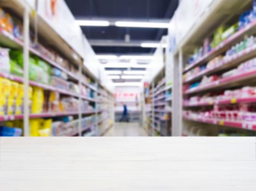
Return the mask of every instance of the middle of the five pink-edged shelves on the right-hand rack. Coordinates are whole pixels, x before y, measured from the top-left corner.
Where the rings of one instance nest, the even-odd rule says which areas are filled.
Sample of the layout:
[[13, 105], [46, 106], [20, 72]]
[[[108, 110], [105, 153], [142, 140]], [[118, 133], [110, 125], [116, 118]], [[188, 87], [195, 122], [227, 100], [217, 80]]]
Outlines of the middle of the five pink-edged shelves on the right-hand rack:
[[235, 76], [225, 77], [223, 79], [208, 83], [207, 85], [198, 86], [195, 88], [188, 89], [185, 91], [185, 94], [192, 94], [203, 92], [209, 89], [220, 88], [220, 87], [231, 87], [235, 83], [241, 82], [243, 80], [254, 79], [256, 76], [256, 70], [247, 71], [242, 74], [238, 74]]

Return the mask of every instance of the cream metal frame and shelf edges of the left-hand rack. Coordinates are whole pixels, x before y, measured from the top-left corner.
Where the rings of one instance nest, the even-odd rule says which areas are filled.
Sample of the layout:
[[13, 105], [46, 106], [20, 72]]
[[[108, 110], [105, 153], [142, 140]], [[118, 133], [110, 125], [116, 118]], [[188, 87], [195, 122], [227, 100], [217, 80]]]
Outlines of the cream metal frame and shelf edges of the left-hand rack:
[[[19, 17], [19, 19], [22, 20], [22, 28], [23, 28], [23, 40], [20, 40], [18, 38], [15, 38], [13, 34], [5, 31], [2, 27], [0, 27], [0, 44], [4, 45], [5, 47], [9, 47], [12, 49], [18, 49], [22, 50], [23, 56], [24, 56], [24, 76], [19, 77], [12, 74], [7, 74], [2, 71], [0, 71], [0, 77], [3, 77], [5, 79], [9, 79], [15, 82], [22, 83], [24, 85], [24, 114], [22, 115], [4, 115], [0, 116], [0, 121], [12, 121], [12, 120], [23, 120], [24, 122], [24, 136], [30, 135], [30, 126], [29, 126], [29, 120], [32, 118], [55, 118], [60, 116], [76, 116], [79, 119], [79, 127], [78, 127], [78, 135], [81, 136], [84, 129], [81, 127], [81, 119], [83, 116], [88, 115], [103, 115], [106, 110], [109, 110], [109, 108], [112, 107], [113, 102], [101, 102], [99, 98], [101, 96], [105, 96], [106, 101], [113, 99], [113, 94], [110, 92], [105, 86], [101, 85], [100, 79], [95, 77], [90, 71], [84, 66], [83, 59], [84, 55], [81, 55], [81, 52], [77, 52], [74, 50], [65, 39], [61, 37], [61, 35], [54, 30], [52, 26], [49, 25], [41, 16], [40, 14], [37, 14], [33, 10], [33, 8], [30, 7], [24, 0], [8, 0], [0, 2], [0, 7], [2, 8], [8, 8], [8, 10], [11, 10], [13, 13], [15, 13], [16, 16]], [[37, 17], [35, 17], [35, 14]], [[37, 19], [37, 22], [35, 21], [35, 18]], [[52, 59], [48, 58], [47, 56], [44, 56], [41, 52], [35, 49], [34, 45], [32, 43], [30, 44], [30, 30], [34, 29], [33, 26], [30, 26], [30, 23], [36, 23], [37, 24], [37, 31], [39, 37], [39, 41], [45, 41], [45, 43], [51, 44], [53, 49], [59, 53], [59, 55], [64, 56], [65, 59], [69, 61], [69, 63], [72, 63], [77, 68], [77, 73], [72, 73], [72, 71], [62, 67], [60, 64], [56, 63]], [[31, 27], [31, 28], [30, 28]], [[50, 42], [50, 43], [49, 43]], [[65, 73], [68, 78], [72, 81], [75, 81], [76, 84], [79, 86], [79, 89], [81, 91], [82, 85], [86, 86], [90, 89], [90, 91], [94, 92], [94, 97], [89, 96], [83, 96], [81, 93], [75, 93], [71, 92], [66, 89], [61, 89], [57, 87], [53, 87], [48, 84], [44, 84], [41, 82], [31, 81], [29, 80], [29, 56], [35, 55], [39, 58], [41, 58], [43, 61], [50, 64], [52, 67], [58, 68], [63, 73]], [[94, 84], [90, 84], [87, 81], [84, 81], [82, 78], [82, 75], [86, 75], [86, 77], [89, 77], [91, 80], [93, 80]], [[70, 96], [74, 98], [79, 99], [79, 105], [82, 105], [81, 103], [84, 101], [88, 101], [91, 105], [94, 107], [94, 111], [83, 111], [79, 108], [78, 111], [74, 112], [53, 112], [53, 113], [43, 113], [43, 114], [30, 114], [29, 111], [29, 96], [28, 96], [28, 89], [29, 86], [32, 87], [40, 87], [44, 91], [50, 91], [50, 92], [58, 92], [62, 94], [63, 96]], [[106, 105], [107, 106], [104, 106]], [[96, 117], [98, 118], [98, 117]], [[113, 119], [113, 116], [111, 118], [105, 119], [107, 123]], [[98, 122], [95, 122], [95, 124], [98, 125]]]

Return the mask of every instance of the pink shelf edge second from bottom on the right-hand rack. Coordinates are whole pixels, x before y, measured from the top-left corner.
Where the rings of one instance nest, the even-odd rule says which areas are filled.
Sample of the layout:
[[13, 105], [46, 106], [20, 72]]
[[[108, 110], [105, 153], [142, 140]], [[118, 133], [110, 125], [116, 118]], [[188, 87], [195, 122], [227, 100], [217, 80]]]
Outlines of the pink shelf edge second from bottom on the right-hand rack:
[[211, 102], [198, 102], [191, 104], [184, 104], [185, 107], [196, 107], [204, 105], [223, 105], [223, 104], [239, 104], [239, 103], [256, 103], [256, 97], [247, 97], [247, 98], [232, 98], [232, 99], [221, 99], [214, 100]]

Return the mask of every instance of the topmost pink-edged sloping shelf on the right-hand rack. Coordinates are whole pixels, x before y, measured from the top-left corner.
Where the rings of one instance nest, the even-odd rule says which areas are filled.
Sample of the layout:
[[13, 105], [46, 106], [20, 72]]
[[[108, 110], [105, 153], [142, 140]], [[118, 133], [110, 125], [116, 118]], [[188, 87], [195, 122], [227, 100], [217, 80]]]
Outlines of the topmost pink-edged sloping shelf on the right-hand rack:
[[183, 73], [186, 71], [191, 70], [192, 68], [197, 67], [198, 65], [201, 65], [205, 62], [210, 61], [212, 58], [214, 58], [217, 55], [220, 55], [220, 53], [223, 53], [228, 49], [231, 44], [237, 43], [239, 40], [243, 38], [245, 34], [251, 34], [256, 30], [256, 20], [249, 23], [246, 27], [241, 29], [240, 31], [237, 31], [235, 34], [231, 35], [231, 37], [227, 38], [223, 42], [221, 42], [217, 47], [215, 47], [213, 50], [208, 52], [206, 55], [204, 55], [202, 58], [198, 59], [196, 62], [190, 64], [188, 67], [186, 67], [183, 70]]

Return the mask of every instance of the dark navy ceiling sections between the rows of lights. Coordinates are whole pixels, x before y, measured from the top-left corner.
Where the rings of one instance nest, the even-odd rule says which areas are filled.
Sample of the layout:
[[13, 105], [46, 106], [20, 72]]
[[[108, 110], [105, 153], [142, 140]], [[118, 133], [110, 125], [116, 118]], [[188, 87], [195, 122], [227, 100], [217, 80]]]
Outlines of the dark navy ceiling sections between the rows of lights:
[[[171, 19], [179, 0], [65, 0], [75, 17], [86, 19]], [[122, 28], [122, 27], [82, 27], [89, 40], [161, 40], [167, 29]], [[141, 47], [94, 46], [96, 53], [149, 53], [154, 49]]]

